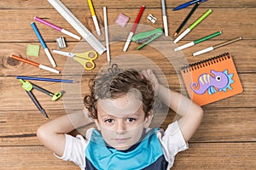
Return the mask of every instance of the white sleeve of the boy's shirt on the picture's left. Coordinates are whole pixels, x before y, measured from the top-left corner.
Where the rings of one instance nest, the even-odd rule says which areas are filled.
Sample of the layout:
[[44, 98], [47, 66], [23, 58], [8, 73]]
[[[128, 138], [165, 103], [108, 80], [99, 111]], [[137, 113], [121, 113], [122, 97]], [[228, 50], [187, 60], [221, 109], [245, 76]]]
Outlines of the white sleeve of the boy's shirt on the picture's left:
[[66, 144], [63, 156], [56, 156], [64, 161], [73, 161], [81, 169], [85, 167], [85, 148], [89, 141], [84, 139], [82, 135], [73, 137], [65, 134]]

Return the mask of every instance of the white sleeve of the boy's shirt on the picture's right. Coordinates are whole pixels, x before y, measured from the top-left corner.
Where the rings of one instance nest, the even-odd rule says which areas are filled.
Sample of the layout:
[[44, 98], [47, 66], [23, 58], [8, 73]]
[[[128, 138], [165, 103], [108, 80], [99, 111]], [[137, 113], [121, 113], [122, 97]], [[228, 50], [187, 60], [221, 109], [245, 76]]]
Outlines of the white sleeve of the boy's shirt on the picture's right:
[[183, 134], [177, 121], [172, 122], [166, 128], [165, 132], [158, 132], [157, 136], [158, 139], [160, 139], [160, 144], [163, 147], [166, 161], [168, 161], [170, 164], [173, 164], [177, 152], [187, 150], [189, 148], [189, 144], [183, 138]]

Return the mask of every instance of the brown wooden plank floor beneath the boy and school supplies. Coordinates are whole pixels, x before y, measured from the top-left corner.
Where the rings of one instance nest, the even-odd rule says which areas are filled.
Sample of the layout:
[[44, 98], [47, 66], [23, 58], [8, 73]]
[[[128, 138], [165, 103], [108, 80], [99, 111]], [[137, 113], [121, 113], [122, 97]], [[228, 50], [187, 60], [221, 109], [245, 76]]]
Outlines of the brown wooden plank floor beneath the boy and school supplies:
[[[172, 8], [186, 1], [166, 0], [170, 35], [176, 31], [192, 6], [175, 12], [172, 11]], [[62, 0], [61, 2], [78, 17], [84, 26], [90, 31], [95, 32], [87, 1]], [[103, 6], [108, 8], [108, 25], [110, 27], [114, 26], [114, 20], [119, 13], [130, 17], [131, 24], [125, 28], [119, 28], [119, 31], [116, 32], [111, 29], [109, 31], [112, 58], [114, 59], [123, 54], [143, 55], [160, 67], [160, 70], [166, 76], [170, 88], [183, 93], [182, 88], [180, 88], [182, 83], [178, 81], [177, 71], [173, 69], [174, 65], [171, 65], [170, 61], [157, 48], [148, 46], [137, 51], [138, 45], [131, 42], [128, 51], [126, 53], [122, 51], [129, 29], [131, 29], [131, 25], [136, 19], [141, 5], [145, 5], [146, 8], [140, 24], [154, 28], [162, 26], [160, 0], [126, 0], [124, 2], [118, 0], [94, 0], [93, 3], [101, 28], [103, 28]], [[199, 26], [195, 27], [182, 41], [178, 42], [178, 45], [194, 41], [215, 31], [223, 31], [221, 36], [214, 37], [207, 42], [201, 42], [201, 44], [197, 44], [193, 48], [184, 49], [183, 55], [189, 63], [193, 63], [201, 59], [230, 52], [236, 63], [236, 69], [241, 78], [244, 91], [242, 94], [203, 106], [205, 115], [201, 126], [189, 141], [189, 150], [185, 150], [177, 155], [172, 169], [255, 169], [256, 2], [254, 0], [211, 0], [207, 1], [207, 3], [201, 3], [184, 28], [192, 24], [208, 8], [212, 8], [212, 14], [206, 20], [203, 20]], [[9, 55], [16, 54], [44, 65], [50, 65], [42, 47], [40, 48], [39, 57], [26, 56], [27, 44], [40, 45], [30, 26], [34, 16], [45, 18], [57, 26], [61, 26], [76, 34], [78, 33], [46, 0], [1, 0], [0, 14], [0, 169], [79, 169], [72, 162], [61, 161], [55, 158], [53, 153], [38, 141], [36, 137], [38, 127], [49, 120], [42, 116], [35, 105], [32, 104], [31, 99], [21, 88], [21, 83], [16, 79], [16, 76], [71, 77], [78, 80], [81, 79], [81, 83], [77, 84], [31, 81], [53, 93], [63, 88], [67, 90], [67, 88], [79, 87], [79, 94], [68, 93], [67, 91], [67, 94], [64, 94], [62, 99], [55, 102], [51, 101], [48, 95], [38, 93], [35, 90], [32, 91], [39, 103], [44, 107], [44, 110], [49, 114], [50, 119], [54, 119], [57, 116], [67, 114], [69, 110], [73, 110], [70, 108], [75, 108], [75, 110], [83, 108], [81, 99], [88, 92], [87, 82], [90, 77], [100, 70], [102, 65], [107, 63], [106, 53], [96, 59], [96, 68], [93, 71], [82, 71], [82, 78], [81, 74], [65, 71], [67, 69], [65, 67], [67, 65], [67, 58], [60, 55], [54, 55], [57, 63], [56, 69], [61, 71], [60, 75], [17, 62], [9, 59]], [[153, 14], [157, 18], [155, 24], [147, 20], [148, 14]], [[49, 49], [57, 48], [55, 38], [61, 37], [63, 34], [48, 26], [39, 24], [37, 21], [35, 22]], [[136, 33], [141, 28], [142, 26], [138, 26]], [[240, 42], [232, 43], [195, 58], [191, 57], [193, 52], [201, 48], [211, 47], [219, 42], [239, 36], [243, 37], [243, 40]], [[63, 49], [65, 51], [73, 51], [74, 48], [78, 47], [79, 43], [82, 43], [71, 37], [65, 35], [64, 37], [67, 41], [67, 48]], [[103, 36], [98, 38], [104, 43]], [[172, 37], [161, 37], [156, 42], [162, 41], [162, 44], [171, 44], [171, 40]], [[167, 53], [173, 53], [170, 48], [166, 50]], [[73, 63], [70, 60], [68, 61]], [[130, 63], [130, 65], [133, 64]], [[140, 64], [145, 66], [143, 62]], [[181, 65], [183, 64], [181, 63]], [[74, 63], [74, 65], [76, 64]], [[80, 68], [79, 66], [77, 67]], [[162, 127], [166, 127], [168, 122], [172, 122], [172, 119], [173, 113], [170, 111]]]

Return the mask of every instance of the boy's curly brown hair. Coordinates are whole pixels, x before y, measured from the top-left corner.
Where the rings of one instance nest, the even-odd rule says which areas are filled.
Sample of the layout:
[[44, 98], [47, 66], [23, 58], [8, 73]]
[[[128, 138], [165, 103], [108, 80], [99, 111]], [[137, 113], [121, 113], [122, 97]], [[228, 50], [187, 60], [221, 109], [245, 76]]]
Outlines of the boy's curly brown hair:
[[108, 71], [101, 71], [90, 82], [90, 94], [84, 96], [85, 108], [89, 116], [97, 119], [96, 103], [98, 99], [117, 99], [127, 94], [131, 89], [137, 89], [142, 94], [145, 117], [154, 108], [154, 88], [145, 77], [134, 69], [123, 71], [118, 65], [112, 65]]

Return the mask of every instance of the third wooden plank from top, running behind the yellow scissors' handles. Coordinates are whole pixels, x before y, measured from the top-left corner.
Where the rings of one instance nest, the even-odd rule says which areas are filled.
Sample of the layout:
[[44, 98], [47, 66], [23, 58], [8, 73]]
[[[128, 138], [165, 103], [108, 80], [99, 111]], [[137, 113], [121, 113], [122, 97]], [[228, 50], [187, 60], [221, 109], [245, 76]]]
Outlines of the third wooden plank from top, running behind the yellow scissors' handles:
[[[179, 68], [183, 65], [195, 63], [203, 59], [208, 59], [218, 54], [223, 54], [225, 52], [230, 52], [230, 54], [233, 55], [234, 62], [236, 63], [236, 69], [239, 73], [256, 72], [256, 58], [254, 57], [256, 56], [256, 51], [254, 50], [255, 41], [243, 40], [241, 42], [230, 44], [229, 46], [226, 46], [224, 48], [218, 48], [211, 53], [203, 54], [199, 57], [190, 57], [193, 52], [200, 50], [201, 48], [210, 47], [212, 46], [212, 43], [216, 44], [218, 42], [205, 42], [202, 46], [188, 48], [180, 53], [172, 52], [172, 49], [170, 48], [173, 48], [173, 46], [172, 44], [168, 45], [168, 42], [153, 42], [152, 44], [150, 44], [150, 46], [148, 45], [148, 47], [145, 47], [142, 50], [136, 50], [138, 45], [136, 43], [131, 43], [129, 51], [127, 53], [124, 53], [122, 51], [124, 42], [113, 42], [111, 43], [110, 51], [112, 59], [117, 60], [119, 60], [119, 58], [125, 56], [126, 54], [137, 56], [136, 59], [140, 60], [135, 60], [135, 62], [139, 67], [144, 65], [145, 61], [143, 57], [147, 58], [151, 60], [154, 65], [157, 65], [160, 70], [166, 75], [169, 75], [170, 73], [175, 74], [177, 70], [179, 70]], [[34, 44], [38, 44], [38, 42]], [[9, 59], [10, 54], [15, 54], [21, 55], [26, 59], [30, 59], [43, 65], [50, 65], [49, 59], [46, 57], [46, 54], [44, 54], [44, 50], [42, 48], [40, 49], [40, 54], [38, 58], [26, 56], [26, 45], [26, 42], [0, 43], [0, 54], [2, 54], [0, 56], [0, 58], [2, 58], [0, 60], [0, 76], [54, 76], [55, 73], [51, 73], [49, 71], [42, 71], [35, 66], [20, 63], [19, 61], [15, 61], [14, 59]], [[65, 49], [65, 51], [72, 52], [82, 48], [84, 49], [84, 51], [91, 50], [90, 46], [85, 42], [68, 42], [67, 45], [68, 47]], [[55, 42], [49, 42], [48, 47], [50, 49], [57, 48]], [[247, 50], [244, 50], [245, 48], [247, 48]], [[172, 55], [172, 57], [169, 58], [169, 55]], [[142, 58], [139, 58], [140, 56]], [[73, 59], [67, 59], [67, 57], [65, 56], [53, 54], [53, 57], [57, 64], [56, 69], [61, 71], [61, 75], [94, 75], [97, 74], [97, 72], [101, 69], [102, 65], [107, 64], [106, 53], [102, 54], [98, 57], [98, 59], [95, 60], [96, 68], [93, 71], [84, 71], [77, 62], [73, 61]], [[130, 59], [129, 61], [131, 61], [130, 67], [133, 67], [134, 62], [132, 62], [131, 57], [129, 57], [128, 59]], [[69, 67], [67, 67], [67, 65], [69, 65]], [[129, 63], [127, 63], [127, 65], [129, 66]]]

